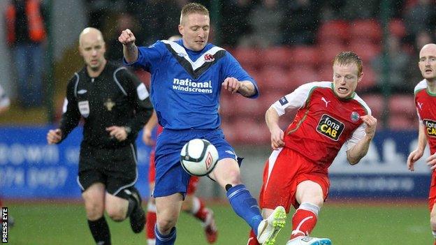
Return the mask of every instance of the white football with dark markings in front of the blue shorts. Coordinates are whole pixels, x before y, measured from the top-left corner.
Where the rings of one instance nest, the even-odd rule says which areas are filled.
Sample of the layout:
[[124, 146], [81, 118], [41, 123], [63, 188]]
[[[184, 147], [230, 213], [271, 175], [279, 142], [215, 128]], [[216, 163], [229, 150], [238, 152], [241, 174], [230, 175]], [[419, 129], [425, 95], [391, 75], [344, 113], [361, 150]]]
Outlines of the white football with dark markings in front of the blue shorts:
[[180, 151], [180, 163], [189, 175], [209, 175], [215, 168], [217, 161], [217, 148], [208, 140], [189, 140]]

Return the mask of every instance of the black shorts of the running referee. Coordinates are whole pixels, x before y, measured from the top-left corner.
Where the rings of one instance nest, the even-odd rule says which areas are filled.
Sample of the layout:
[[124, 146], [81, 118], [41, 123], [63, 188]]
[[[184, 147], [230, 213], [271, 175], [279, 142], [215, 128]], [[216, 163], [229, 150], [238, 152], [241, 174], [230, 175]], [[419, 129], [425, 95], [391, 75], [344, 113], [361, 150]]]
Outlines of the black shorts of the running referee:
[[78, 184], [85, 191], [94, 183], [102, 183], [112, 195], [123, 196], [122, 190], [138, 180], [136, 145], [120, 148], [96, 148], [88, 144], [80, 146]]

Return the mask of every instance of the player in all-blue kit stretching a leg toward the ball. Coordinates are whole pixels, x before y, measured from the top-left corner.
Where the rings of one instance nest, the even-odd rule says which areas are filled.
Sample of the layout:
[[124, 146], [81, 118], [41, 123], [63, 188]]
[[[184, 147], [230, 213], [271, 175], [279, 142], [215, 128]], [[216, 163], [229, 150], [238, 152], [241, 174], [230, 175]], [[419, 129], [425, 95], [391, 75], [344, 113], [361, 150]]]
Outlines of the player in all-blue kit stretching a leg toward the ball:
[[207, 8], [198, 3], [185, 5], [178, 29], [182, 39], [158, 40], [150, 47], [137, 47], [129, 29], [118, 38], [123, 44], [124, 64], [152, 74], [150, 98], [163, 126], [155, 155], [156, 244], [175, 243], [175, 225], [190, 177], [180, 165], [180, 150], [194, 138], [209, 140], [217, 147], [219, 161], [209, 177], [227, 191], [235, 213], [256, 232], [261, 244], [275, 244], [285, 223], [284, 208], [277, 207], [268, 218], [262, 218], [256, 199], [241, 182], [235, 151], [219, 128], [221, 89], [256, 98], [257, 84], [230, 53], [208, 43]]

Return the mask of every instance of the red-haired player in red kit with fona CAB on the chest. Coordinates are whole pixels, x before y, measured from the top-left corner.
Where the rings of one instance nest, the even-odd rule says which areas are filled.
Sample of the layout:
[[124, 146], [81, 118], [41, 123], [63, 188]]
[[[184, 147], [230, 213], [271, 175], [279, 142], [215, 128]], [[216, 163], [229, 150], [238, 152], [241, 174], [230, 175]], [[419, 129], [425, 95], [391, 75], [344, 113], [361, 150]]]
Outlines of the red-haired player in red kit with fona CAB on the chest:
[[[328, 195], [328, 167], [342, 144], [347, 161], [358, 163], [368, 152], [377, 119], [355, 93], [362, 80], [362, 61], [354, 52], [341, 52], [333, 60], [333, 82], [310, 82], [275, 102], [266, 112], [273, 153], [266, 161], [260, 205], [263, 216], [277, 206], [292, 217], [286, 245], [329, 245], [330, 239], [309, 237]], [[286, 131], [279, 117], [296, 111]], [[251, 232], [249, 245], [259, 244]]]

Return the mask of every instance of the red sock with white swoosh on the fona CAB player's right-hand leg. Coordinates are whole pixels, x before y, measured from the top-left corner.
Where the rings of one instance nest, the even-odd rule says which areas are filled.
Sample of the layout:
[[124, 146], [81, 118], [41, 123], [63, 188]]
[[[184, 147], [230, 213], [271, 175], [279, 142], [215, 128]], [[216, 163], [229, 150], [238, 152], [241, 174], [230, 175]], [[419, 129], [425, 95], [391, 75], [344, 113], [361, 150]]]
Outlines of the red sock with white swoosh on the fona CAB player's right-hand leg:
[[291, 239], [295, 237], [309, 235], [317, 224], [317, 215], [314, 212], [297, 209], [292, 216], [292, 235]]

